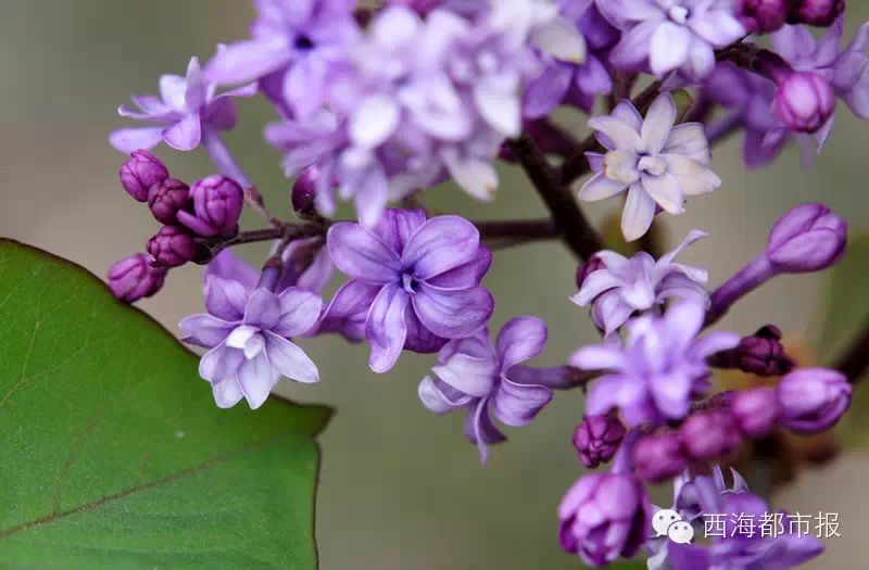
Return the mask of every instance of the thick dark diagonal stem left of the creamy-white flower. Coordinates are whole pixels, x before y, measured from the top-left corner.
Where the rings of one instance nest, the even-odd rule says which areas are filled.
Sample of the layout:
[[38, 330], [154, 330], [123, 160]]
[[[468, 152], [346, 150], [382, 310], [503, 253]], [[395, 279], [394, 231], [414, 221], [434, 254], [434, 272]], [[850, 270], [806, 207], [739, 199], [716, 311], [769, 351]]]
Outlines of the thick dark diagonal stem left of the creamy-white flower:
[[582, 259], [599, 252], [602, 242], [597, 232], [577, 205], [569, 185], [562, 182], [558, 170], [550, 164], [537, 144], [527, 136], [521, 136], [512, 139], [508, 145], [546, 204], [567, 246]]

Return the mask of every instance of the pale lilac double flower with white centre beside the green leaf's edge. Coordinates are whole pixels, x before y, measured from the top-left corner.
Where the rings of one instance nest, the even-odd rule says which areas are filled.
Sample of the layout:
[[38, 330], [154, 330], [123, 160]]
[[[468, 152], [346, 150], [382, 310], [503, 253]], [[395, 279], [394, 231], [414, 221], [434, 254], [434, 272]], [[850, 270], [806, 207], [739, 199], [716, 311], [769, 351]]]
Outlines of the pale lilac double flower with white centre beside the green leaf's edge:
[[316, 382], [317, 367], [290, 338], [316, 324], [322, 305], [319, 295], [300, 288], [276, 294], [209, 276], [207, 314], [187, 317], [179, 326], [187, 334], [185, 342], [210, 349], [199, 375], [211, 382], [217, 406], [232, 407], [244, 397], [255, 409], [281, 376]]

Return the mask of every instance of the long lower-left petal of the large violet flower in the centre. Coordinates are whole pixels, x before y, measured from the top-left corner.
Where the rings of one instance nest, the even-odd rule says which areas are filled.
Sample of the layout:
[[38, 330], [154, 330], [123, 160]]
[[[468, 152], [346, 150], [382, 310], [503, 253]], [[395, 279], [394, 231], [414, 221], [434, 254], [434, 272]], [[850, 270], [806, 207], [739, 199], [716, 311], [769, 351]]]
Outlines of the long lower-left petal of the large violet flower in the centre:
[[398, 283], [385, 286], [371, 304], [365, 322], [365, 338], [371, 346], [368, 366], [375, 372], [387, 372], [399, 359], [407, 327], [404, 309], [410, 295]]

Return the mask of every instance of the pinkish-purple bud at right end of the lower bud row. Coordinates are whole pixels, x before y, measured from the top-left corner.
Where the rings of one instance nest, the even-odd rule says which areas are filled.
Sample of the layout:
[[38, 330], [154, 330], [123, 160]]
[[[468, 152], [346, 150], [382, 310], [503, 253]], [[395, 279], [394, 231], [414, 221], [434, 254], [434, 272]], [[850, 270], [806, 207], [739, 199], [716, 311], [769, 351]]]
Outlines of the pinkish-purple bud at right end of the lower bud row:
[[851, 406], [852, 387], [845, 376], [828, 368], [801, 368], [782, 378], [776, 397], [782, 425], [797, 433], [831, 428]]

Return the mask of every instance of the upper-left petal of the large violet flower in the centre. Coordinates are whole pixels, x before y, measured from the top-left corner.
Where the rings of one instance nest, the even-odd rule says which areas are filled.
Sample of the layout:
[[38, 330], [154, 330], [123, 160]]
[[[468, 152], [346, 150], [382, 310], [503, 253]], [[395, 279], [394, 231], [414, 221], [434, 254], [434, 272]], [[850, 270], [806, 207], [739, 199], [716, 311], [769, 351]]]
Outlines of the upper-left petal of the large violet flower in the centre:
[[358, 224], [335, 224], [329, 228], [327, 243], [332, 263], [343, 274], [373, 284], [398, 279], [399, 255]]

